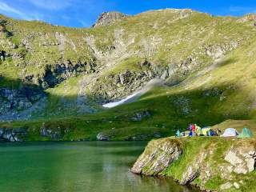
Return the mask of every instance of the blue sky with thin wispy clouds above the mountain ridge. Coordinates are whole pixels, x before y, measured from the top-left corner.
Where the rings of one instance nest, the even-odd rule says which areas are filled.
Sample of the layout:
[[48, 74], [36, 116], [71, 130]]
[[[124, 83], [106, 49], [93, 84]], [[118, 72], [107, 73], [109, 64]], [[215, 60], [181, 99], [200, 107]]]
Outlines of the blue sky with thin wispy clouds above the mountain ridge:
[[138, 14], [146, 10], [190, 8], [214, 15], [256, 13], [255, 0], [0, 0], [0, 14], [54, 25], [88, 27], [104, 11]]

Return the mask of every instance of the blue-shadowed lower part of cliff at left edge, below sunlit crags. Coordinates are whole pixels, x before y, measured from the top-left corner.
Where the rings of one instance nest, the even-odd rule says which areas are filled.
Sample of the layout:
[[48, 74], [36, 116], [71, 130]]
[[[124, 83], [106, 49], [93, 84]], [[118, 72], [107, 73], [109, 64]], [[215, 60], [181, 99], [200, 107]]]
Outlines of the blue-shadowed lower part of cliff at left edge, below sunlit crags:
[[18, 90], [10, 90], [7, 88], [0, 89], [0, 115], [11, 111], [26, 110], [30, 108], [34, 102], [45, 97], [46, 94], [39, 88], [29, 86], [22, 87]]

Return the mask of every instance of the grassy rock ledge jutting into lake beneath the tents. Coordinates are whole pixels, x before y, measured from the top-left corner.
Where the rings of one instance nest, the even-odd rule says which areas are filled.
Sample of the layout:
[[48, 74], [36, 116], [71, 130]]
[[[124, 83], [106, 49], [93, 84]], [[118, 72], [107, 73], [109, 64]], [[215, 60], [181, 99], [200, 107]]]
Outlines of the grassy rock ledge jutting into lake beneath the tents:
[[256, 139], [162, 138], [151, 141], [132, 172], [177, 179], [209, 191], [255, 191]]

